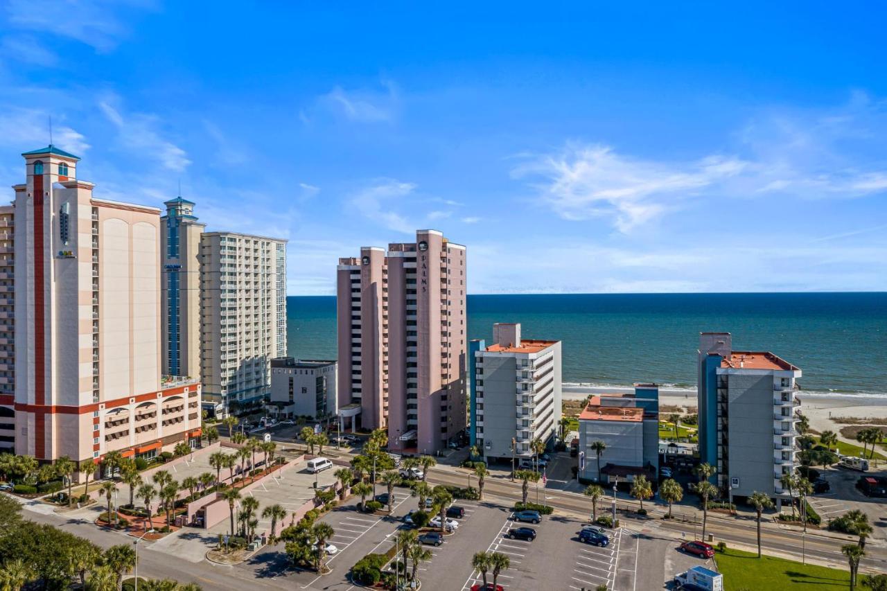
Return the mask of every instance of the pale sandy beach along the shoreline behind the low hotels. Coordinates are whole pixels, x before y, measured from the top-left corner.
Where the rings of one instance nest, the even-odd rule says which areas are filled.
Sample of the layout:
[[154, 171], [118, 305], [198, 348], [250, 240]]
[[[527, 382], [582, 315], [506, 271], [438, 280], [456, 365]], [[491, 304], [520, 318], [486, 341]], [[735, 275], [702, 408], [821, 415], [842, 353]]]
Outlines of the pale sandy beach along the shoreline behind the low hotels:
[[[589, 394], [632, 391], [632, 388], [563, 384], [563, 398], [572, 400], [582, 400]], [[797, 398], [801, 401], [801, 412], [810, 420], [811, 428], [820, 432], [831, 429], [840, 433], [840, 429], [846, 427], [846, 424], [834, 422], [832, 419], [835, 417], [887, 419], [887, 397], [867, 394], [805, 393], [804, 390], [800, 390], [797, 392]], [[659, 402], [661, 406], [681, 406], [687, 409], [687, 413], [695, 413], [696, 391], [659, 390]]]

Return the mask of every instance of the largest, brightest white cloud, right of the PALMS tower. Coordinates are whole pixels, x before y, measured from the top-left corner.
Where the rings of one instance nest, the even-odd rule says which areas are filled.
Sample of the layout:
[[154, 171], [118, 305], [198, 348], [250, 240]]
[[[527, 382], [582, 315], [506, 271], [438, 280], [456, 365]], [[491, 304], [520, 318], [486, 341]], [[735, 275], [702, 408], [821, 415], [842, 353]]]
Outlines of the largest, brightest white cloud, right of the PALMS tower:
[[699, 162], [669, 163], [616, 154], [610, 146], [567, 146], [514, 169], [531, 177], [541, 197], [561, 217], [585, 220], [611, 216], [621, 232], [663, 214], [674, 200], [694, 193], [748, 165], [709, 156]]

